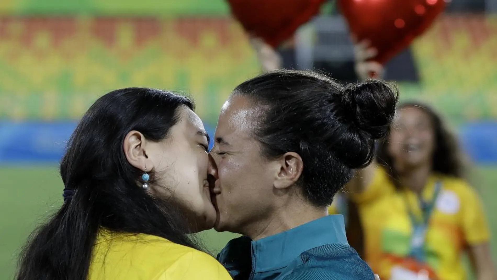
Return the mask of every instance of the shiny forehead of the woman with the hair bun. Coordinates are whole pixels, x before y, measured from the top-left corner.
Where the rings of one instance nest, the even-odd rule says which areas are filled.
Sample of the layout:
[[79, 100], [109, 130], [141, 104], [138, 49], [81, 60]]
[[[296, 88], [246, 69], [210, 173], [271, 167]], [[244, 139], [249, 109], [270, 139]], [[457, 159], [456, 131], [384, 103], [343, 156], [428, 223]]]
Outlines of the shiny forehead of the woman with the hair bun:
[[219, 114], [216, 137], [222, 137], [230, 143], [251, 139], [249, 135], [257, 113], [248, 98], [240, 95], [230, 96]]

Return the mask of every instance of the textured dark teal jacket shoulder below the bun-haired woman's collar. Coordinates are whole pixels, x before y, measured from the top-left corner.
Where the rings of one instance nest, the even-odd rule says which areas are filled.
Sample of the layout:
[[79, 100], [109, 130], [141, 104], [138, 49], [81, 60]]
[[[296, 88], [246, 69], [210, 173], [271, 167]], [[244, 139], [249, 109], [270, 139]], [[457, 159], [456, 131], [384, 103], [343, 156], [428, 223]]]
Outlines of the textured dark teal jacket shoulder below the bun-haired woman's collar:
[[373, 280], [369, 266], [346, 244], [327, 244], [308, 250], [283, 280]]

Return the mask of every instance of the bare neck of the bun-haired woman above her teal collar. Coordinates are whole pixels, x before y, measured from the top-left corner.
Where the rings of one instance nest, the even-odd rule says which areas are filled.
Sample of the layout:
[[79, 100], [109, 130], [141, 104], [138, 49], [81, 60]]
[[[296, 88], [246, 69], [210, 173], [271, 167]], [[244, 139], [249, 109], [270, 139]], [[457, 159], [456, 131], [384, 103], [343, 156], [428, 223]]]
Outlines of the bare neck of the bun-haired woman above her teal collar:
[[301, 226], [328, 214], [326, 208], [312, 206], [302, 199], [279, 205], [275, 209], [267, 219], [247, 224], [246, 230], [241, 233], [252, 240], [258, 240]]

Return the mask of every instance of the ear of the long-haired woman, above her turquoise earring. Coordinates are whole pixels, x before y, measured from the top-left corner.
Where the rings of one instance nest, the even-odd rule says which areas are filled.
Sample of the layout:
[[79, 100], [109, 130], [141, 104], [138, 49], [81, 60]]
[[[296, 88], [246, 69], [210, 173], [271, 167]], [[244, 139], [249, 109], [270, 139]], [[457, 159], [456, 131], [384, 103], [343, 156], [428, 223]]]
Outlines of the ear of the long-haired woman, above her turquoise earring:
[[147, 139], [145, 136], [136, 130], [132, 130], [124, 137], [123, 151], [128, 162], [145, 172], [154, 169], [152, 160], [147, 155]]

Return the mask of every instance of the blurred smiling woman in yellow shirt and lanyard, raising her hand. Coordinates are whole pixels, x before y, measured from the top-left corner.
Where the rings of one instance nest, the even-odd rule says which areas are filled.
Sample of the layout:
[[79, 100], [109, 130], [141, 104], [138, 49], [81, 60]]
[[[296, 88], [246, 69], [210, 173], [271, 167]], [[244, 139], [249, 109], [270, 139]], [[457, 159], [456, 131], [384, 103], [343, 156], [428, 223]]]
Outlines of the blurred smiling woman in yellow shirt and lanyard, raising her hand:
[[[360, 77], [381, 77], [381, 65], [367, 61], [376, 55], [367, 42], [356, 44], [355, 52]], [[430, 279], [462, 280], [461, 257], [468, 253], [479, 280], [496, 280], [487, 221], [464, 180], [456, 137], [420, 102], [402, 103], [397, 114], [373, 164], [346, 186], [360, 215], [348, 222], [363, 228], [365, 259], [384, 279], [425, 271]]]

